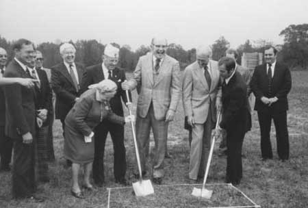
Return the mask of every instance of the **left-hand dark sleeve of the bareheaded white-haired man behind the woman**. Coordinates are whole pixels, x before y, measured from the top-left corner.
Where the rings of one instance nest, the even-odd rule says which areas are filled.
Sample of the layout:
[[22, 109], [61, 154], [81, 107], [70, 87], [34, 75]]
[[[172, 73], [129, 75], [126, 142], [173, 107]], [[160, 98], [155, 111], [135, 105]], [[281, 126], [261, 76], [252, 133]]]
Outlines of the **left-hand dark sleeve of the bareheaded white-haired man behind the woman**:
[[51, 70], [51, 86], [53, 88], [53, 91], [55, 92], [55, 94], [57, 94], [57, 96], [59, 96], [60, 99], [63, 99], [70, 103], [75, 103], [76, 96], [62, 88], [60, 76], [60, 72], [57, 69]]

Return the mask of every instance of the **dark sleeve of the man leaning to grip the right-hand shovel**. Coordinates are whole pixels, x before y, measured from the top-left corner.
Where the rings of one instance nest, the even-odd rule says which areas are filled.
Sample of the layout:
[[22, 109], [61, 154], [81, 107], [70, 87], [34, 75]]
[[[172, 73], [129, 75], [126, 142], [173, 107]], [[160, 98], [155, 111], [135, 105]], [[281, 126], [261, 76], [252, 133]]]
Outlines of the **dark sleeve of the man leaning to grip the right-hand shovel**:
[[223, 109], [223, 116], [220, 122], [220, 127], [226, 129], [228, 124], [235, 122], [233, 118], [236, 117], [240, 108], [244, 105], [246, 100], [246, 90], [243, 88], [235, 88], [230, 95], [229, 105]]

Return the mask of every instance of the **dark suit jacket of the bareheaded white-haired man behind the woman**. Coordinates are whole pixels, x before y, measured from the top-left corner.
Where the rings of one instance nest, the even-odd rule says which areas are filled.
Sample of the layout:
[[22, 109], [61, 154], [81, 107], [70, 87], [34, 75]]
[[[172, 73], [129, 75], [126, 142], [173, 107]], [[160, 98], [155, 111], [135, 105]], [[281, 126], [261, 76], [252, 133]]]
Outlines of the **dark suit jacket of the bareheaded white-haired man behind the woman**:
[[[85, 68], [78, 63], [75, 65], [80, 85]], [[63, 62], [51, 68], [51, 86], [55, 92], [55, 118], [63, 120], [73, 107], [76, 97], [80, 95], [80, 90], [76, 91], [73, 79]]]

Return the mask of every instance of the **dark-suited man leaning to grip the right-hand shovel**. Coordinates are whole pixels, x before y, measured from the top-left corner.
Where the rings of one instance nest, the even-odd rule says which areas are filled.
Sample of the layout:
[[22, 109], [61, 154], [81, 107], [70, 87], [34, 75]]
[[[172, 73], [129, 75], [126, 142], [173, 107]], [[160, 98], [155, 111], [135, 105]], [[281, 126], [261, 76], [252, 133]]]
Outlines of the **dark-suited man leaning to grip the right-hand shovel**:
[[[218, 62], [222, 83], [222, 120], [220, 128], [227, 131], [226, 183], [238, 185], [242, 179], [242, 144], [247, 130], [247, 88], [235, 70], [235, 60], [222, 57]], [[219, 133], [218, 133], [219, 134]]]

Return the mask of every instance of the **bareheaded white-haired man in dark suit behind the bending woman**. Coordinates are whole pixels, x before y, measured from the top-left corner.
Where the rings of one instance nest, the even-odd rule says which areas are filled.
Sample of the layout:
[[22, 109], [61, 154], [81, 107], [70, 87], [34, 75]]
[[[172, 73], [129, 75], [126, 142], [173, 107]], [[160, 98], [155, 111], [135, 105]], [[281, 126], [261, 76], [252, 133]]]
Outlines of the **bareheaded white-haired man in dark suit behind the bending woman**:
[[[73, 44], [60, 46], [63, 62], [51, 68], [51, 86], [55, 92], [55, 119], [60, 119], [64, 132], [65, 117], [79, 99], [80, 84], [85, 68], [75, 63], [76, 49]], [[64, 133], [63, 133], [64, 136]], [[70, 161], [67, 161], [70, 166]]]

